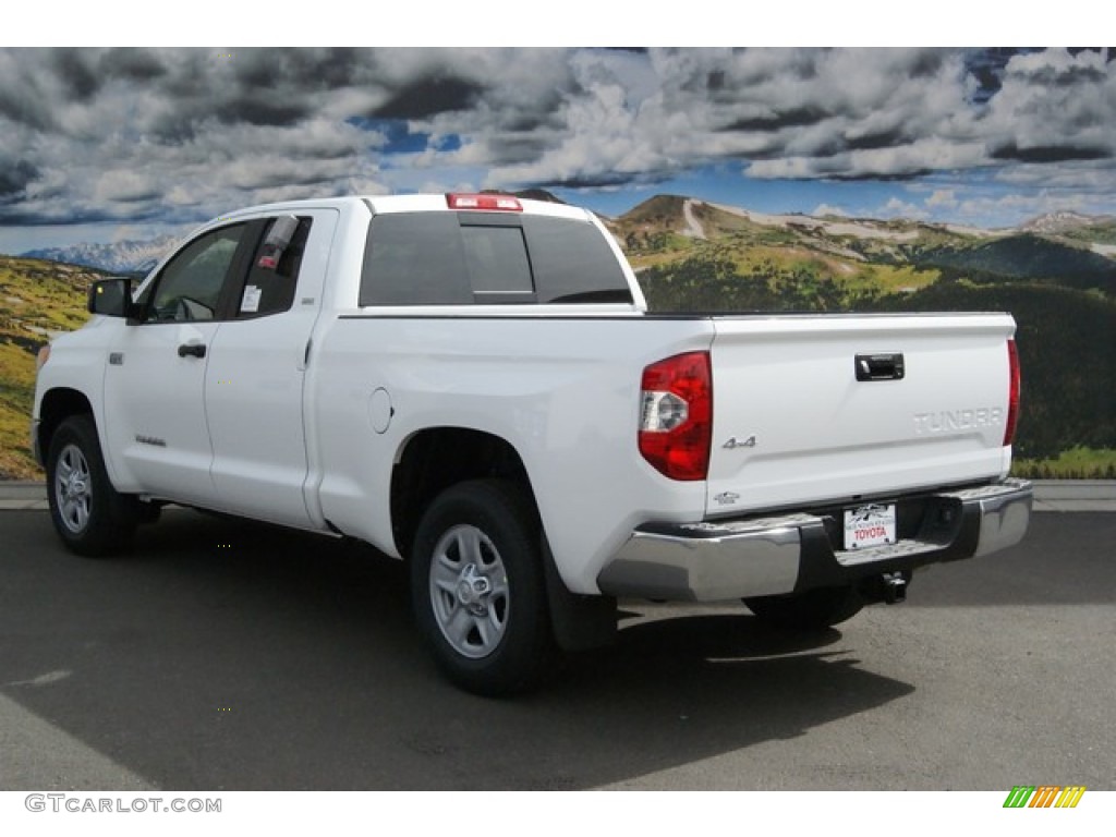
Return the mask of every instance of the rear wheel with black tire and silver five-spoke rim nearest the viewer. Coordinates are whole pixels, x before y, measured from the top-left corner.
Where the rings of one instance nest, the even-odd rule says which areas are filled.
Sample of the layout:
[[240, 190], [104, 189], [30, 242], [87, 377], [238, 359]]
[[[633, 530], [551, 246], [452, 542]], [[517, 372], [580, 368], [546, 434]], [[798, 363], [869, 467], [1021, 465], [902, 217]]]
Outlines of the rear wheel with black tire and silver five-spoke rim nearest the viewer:
[[538, 514], [512, 482], [462, 482], [431, 503], [411, 596], [439, 666], [465, 691], [523, 692], [552, 662]]

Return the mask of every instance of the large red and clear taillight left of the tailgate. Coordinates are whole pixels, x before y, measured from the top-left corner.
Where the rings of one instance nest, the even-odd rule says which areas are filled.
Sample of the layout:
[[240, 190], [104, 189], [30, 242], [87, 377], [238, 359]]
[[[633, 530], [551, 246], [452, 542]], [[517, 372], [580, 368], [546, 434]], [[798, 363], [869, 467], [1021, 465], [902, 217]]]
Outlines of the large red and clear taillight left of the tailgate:
[[689, 352], [643, 371], [639, 453], [672, 480], [704, 480], [713, 436], [708, 352]]

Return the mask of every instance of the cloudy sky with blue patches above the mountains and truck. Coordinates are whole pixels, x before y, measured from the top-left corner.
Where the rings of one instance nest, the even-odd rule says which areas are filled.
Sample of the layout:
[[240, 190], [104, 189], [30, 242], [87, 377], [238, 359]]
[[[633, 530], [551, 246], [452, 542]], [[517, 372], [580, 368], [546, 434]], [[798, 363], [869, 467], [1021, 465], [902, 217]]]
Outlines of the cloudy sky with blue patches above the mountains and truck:
[[1004, 227], [1116, 214], [1116, 51], [0, 50], [0, 252], [541, 186]]

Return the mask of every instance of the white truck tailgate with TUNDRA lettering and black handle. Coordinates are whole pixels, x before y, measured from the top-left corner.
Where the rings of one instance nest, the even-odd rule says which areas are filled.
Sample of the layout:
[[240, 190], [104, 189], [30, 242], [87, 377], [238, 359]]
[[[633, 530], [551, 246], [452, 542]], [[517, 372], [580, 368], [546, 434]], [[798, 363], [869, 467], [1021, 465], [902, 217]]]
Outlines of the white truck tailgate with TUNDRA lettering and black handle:
[[709, 516], [1001, 475], [1003, 314], [714, 320]]

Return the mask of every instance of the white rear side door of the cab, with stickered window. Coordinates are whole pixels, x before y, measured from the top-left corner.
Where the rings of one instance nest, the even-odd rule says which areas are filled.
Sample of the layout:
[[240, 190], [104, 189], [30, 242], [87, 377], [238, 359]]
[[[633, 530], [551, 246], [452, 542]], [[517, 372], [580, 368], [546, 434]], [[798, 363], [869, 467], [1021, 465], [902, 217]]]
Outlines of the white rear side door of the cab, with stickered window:
[[336, 210], [299, 210], [266, 221], [210, 347], [212, 474], [229, 511], [311, 526], [302, 391], [337, 219]]

